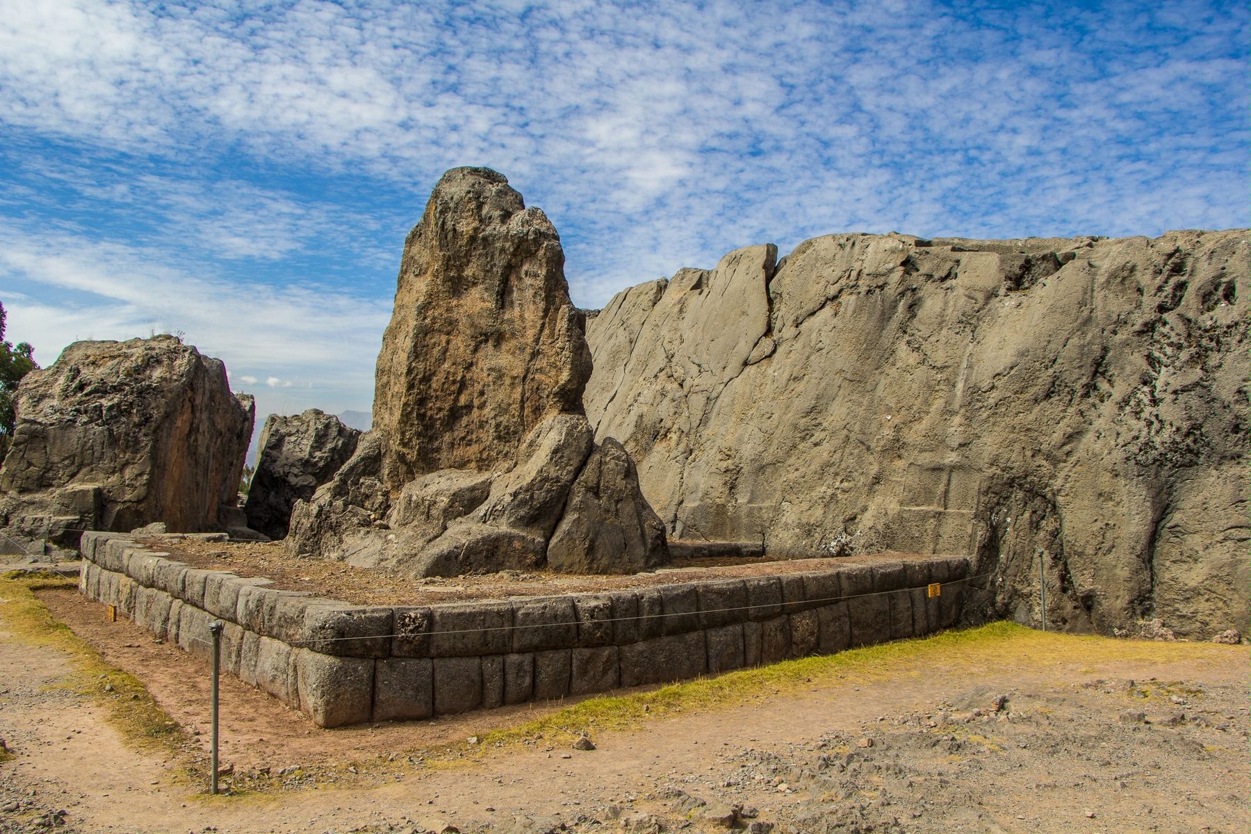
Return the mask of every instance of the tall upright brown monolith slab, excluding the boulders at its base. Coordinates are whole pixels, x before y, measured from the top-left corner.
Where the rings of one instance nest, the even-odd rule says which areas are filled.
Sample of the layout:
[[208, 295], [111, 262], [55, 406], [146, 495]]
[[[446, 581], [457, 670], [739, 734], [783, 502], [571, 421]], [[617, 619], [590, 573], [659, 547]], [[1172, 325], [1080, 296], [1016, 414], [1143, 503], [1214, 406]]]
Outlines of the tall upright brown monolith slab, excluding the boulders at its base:
[[444, 174], [404, 241], [378, 355], [383, 481], [510, 465], [544, 418], [582, 411], [589, 375], [552, 223], [495, 171]]

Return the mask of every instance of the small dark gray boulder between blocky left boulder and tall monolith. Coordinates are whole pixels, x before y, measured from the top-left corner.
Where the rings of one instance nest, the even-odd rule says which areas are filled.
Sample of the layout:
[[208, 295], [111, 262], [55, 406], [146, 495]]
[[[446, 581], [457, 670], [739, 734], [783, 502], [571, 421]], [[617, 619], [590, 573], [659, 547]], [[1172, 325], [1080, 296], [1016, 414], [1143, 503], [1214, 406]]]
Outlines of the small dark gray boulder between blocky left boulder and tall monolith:
[[338, 418], [309, 409], [299, 415], [271, 414], [260, 430], [256, 471], [244, 511], [248, 526], [271, 539], [286, 535], [291, 506], [310, 499], [357, 450], [360, 431]]

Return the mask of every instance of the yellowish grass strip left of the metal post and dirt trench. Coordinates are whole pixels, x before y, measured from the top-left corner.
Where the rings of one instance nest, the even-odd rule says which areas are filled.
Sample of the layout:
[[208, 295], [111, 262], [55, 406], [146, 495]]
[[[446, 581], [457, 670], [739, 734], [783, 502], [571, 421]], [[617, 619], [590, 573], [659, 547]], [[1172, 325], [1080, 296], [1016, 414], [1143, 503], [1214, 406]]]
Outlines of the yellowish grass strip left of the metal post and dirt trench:
[[125, 738], [190, 765], [183, 728], [156, 704], [134, 675], [106, 663], [95, 649], [56, 620], [35, 596], [36, 590], [73, 589], [78, 583], [56, 575], [18, 574], [0, 579], [0, 623], [14, 639], [46, 646], [68, 656], [74, 671], [59, 684], [93, 698], [108, 710], [109, 721]]

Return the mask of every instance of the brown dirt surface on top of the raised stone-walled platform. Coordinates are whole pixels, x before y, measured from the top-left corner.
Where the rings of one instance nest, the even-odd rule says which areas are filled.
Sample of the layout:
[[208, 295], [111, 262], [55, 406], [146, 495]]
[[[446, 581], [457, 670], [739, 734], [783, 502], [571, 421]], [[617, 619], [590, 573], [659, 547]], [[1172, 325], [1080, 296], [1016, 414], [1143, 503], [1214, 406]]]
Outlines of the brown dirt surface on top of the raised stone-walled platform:
[[552, 571], [504, 570], [497, 574], [445, 579], [413, 576], [383, 568], [353, 568], [340, 561], [289, 555], [280, 541], [200, 541], [195, 539], [140, 539], [154, 551], [206, 570], [229, 570], [239, 576], [264, 576], [283, 590], [306, 590], [317, 596], [354, 605], [420, 605], [472, 599], [507, 599], [642, 588], [701, 579], [729, 579], [819, 570], [834, 565], [923, 559], [907, 553], [878, 553], [839, 559], [769, 560], [694, 559], [641, 574], [580, 576]]

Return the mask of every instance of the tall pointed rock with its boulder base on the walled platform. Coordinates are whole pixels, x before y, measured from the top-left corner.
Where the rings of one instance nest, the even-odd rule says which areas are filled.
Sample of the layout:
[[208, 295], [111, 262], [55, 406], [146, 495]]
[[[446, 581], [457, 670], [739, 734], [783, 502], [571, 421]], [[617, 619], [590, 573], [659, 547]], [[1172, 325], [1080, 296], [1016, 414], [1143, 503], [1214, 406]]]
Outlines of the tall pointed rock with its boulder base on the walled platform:
[[560, 239], [487, 169], [439, 180], [408, 235], [374, 430], [308, 501], [289, 549], [414, 575], [629, 573], [664, 528], [582, 409], [590, 351]]

